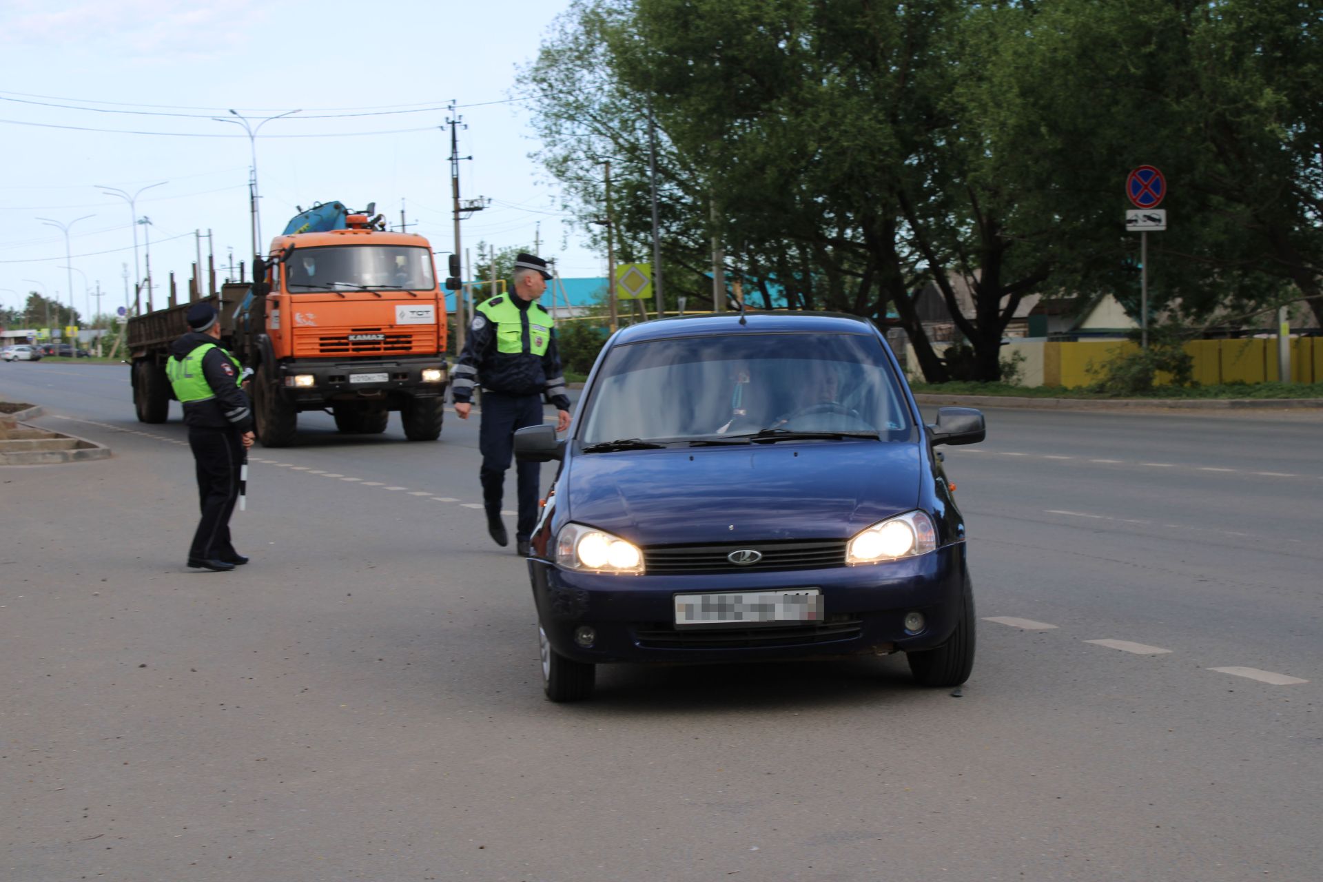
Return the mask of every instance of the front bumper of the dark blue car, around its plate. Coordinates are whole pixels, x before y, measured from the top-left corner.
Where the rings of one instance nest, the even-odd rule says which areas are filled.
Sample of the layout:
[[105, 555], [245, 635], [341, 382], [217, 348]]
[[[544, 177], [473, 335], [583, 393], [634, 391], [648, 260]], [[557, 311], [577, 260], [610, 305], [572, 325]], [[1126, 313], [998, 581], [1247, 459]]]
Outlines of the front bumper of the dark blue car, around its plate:
[[[820, 570], [720, 575], [603, 575], [528, 561], [538, 619], [556, 651], [586, 662], [765, 661], [884, 655], [946, 643], [962, 611], [964, 543], [901, 561]], [[820, 623], [675, 627], [676, 594], [816, 587]], [[926, 620], [905, 631], [909, 612]], [[591, 647], [574, 640], [595, 631]]]

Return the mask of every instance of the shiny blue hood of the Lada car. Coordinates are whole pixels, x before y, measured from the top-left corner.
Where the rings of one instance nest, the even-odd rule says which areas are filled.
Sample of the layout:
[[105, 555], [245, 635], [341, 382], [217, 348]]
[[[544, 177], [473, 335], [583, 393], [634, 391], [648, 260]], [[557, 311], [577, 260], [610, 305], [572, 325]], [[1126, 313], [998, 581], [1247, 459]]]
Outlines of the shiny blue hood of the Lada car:
[[808, 442], [578, 454], [569, 520], [639, 545], [845, 538], [918, 504], [919, 448]]

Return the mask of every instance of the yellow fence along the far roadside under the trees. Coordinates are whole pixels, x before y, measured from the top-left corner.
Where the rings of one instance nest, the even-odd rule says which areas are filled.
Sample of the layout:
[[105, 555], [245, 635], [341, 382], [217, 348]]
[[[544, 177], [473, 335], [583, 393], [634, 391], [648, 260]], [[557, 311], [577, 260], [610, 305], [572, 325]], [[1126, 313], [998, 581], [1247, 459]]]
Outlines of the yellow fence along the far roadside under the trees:
[[[1021, 352], [1032, 364], [1041, 346], [1044, 386], [1088, 386], [1098, 377], [1089, 366], [1101, 368], [1106, 362], [1134, 352], [1129, 340], [1081, 340], [1077, 342], [1016, 342], [1003, 349], [1003, 358]], [[1277, 382], [1277, 340], [1195, 340], [1185, 344], [1195, 360], [1193, 378], [1205, 385]], [[1162, 383], [1162, 374], [1158, 382]], [[1323, 337], [1295, 337], [1291, 340], [1291, 382], [1323, 382]]]

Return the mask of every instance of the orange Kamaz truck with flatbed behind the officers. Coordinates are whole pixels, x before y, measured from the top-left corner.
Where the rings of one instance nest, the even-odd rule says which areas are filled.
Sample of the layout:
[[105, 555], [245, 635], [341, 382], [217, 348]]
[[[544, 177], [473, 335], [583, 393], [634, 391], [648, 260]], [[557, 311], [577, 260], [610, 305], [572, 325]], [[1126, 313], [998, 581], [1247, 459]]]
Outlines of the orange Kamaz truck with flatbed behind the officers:
[[[210, 298], [222, 341], [253, 370], [258, 440], [295, 442], [300, 411], [325, 410], [341, 432], [382, 432], [398, 411], [410, 440], [441, 435], [446, 394], [446, 300], [427, 239], [390, 233], [381, 216], [316, 205], [255, 258], [251, 283]], [[208, 298], [204, 298], [208, 299]], [[164, 364], [188, 328], [179, 304], [128, 321], [134, 402], [164, 422]]]

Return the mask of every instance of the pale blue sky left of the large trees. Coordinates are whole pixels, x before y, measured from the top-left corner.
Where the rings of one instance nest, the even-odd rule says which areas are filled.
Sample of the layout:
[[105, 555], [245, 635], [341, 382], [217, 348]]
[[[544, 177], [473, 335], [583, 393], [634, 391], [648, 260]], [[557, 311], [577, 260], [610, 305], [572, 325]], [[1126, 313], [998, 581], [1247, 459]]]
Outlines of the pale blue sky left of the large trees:
[[[460, 194], [493, 200], [464, 222], [464, 246], [531, 245], [541, 222], [542, 255], [558, 258], [562, 275], [605, 275], [605, 259], [564, 225], [554, 182], [528, 159], [537, 141], [524, 122], [525, 104], [509, 100], [517, 98], [516, 66], [536, 56], [566, 5], [0, 3], [0, 304], [17, 307], [42, 284], [67, 303], [64, 234], [37, 218], [69, 222], [86, 214], [94, 217], [70, 227], [71, 263], [86, 275], [85, 283], [73, 272], [74, 305], [87, 313], [85, 284], [98, 280], [108, 292], [103, 311], [123, 304], [124, 266], [134, 274], [131, 213], [98, 184], [134, 192], [168, 181], [138, 200], [138, 216], [152, 221], [157, 286], [169, 270], [184, 284], [194, 229], [212, 229], [218, 264], [230, 249], [235, 262], [250, 259], [249, 139], [239, 126], [210, 119], [229, 116], [228, 108], [254, 120], [303, 111], [265, 124], [257, 138], [267, 241], [296, 205], [376, 201], [398, 223], [404, 198], [409, 222], [418, 222], [410, 231], [448, 251], [450, 138], [438, 127], [455, 99], [468, 124], [460, 155], [474, 157], [460, 164]], [[415, 108], [435, 110], [384, 112]], [[345, 112], [377, 115], [314, 119]], [[205, 239], [202, 251], [205, 262]], [[439, 255], [442, 267], [443, 261]], [[157, 287], [157, 303], [163, 296]]]

